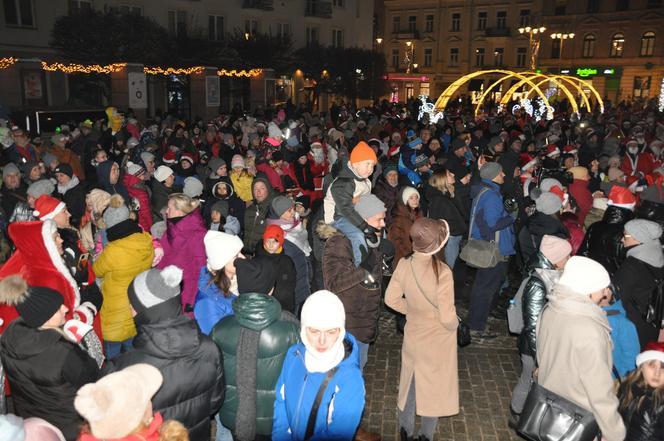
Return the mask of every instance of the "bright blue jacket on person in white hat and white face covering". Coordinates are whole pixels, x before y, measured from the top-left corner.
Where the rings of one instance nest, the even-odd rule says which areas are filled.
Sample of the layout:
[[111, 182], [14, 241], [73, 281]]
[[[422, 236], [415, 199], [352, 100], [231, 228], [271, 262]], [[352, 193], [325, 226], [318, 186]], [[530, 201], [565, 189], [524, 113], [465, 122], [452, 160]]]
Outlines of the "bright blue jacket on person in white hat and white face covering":
[[[321, 400], [311, 440], [353, 439], [364, 410], [364, 380], [355, 337], [346, 333], [346, 357], [328, 384]], [[352, 347], [352, 349], [350, 349]], [[323, 372], [311, 373], [304, 364], [304, 344], [290, 347], [277, 381], [272, 439], [304, 440]]]

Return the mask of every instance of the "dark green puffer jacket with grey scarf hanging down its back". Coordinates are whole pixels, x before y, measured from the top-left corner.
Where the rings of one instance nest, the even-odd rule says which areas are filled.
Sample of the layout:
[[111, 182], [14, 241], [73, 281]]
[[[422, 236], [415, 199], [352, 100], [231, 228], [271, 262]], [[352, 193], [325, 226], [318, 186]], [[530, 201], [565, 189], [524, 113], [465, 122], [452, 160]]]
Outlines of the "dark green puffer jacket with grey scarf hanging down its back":
[[[235, 314], [222, 319], [210, 336], [223, 353], [226, 376], [226, 398], [219, 411], [222, 424], [235, 432], [239, 406], [238, 384], [251, 381], [251, 371], [237, 370], [237, 353], [242, 328], [260, 332], [256, 360], [255, 433], [272, 433], [275, 387], [288, 348], [300, 339], [300, 325], [294, 315], [282, 311], [279, 301], [264, 294], [241, 294], [233, 302]], [[244, 383], [247, 384], [247, 383]], [[251, 424], [241, 421], [240, 424]]]

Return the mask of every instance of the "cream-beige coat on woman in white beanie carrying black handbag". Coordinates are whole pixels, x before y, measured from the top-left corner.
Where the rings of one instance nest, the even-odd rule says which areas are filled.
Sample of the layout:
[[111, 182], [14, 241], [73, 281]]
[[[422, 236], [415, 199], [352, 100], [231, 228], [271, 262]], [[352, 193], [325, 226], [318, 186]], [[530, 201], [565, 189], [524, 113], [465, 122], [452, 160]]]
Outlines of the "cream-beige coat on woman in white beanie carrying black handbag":
[[[613, 392], [610, 327], [599, 306], [557, 285], [538, 322], [538, 382], [593, 413], [607, 441], [623, 441], [625, 426]], [[578, 300], [574, 299], [578, 296]]]

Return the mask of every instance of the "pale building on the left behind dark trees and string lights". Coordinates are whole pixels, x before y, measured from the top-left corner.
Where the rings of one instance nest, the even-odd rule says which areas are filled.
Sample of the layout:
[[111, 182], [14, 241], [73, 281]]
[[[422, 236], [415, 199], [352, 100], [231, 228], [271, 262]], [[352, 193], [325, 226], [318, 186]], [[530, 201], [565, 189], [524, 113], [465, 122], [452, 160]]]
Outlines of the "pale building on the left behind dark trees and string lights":
[[[18, 59], [0, 69], [0, 81], [5, 86], [0, 90], [0, 106], [5, 111], [93, 105], [89, 100], [81, 102], [77, 96], [75, 83], [79, 78], [45, 71], [40, 63], [60, 61], [49, 46], [51, 30], [57, 17], [78, 10], [114, 9], [140, 14], [154, 19], [172, 35], [195, 33], [213, 41], [223, 41], [236, 33], [246, 38], [261, 33], [289, 35], [293, 49], [308, 44], [371, 48], [373, 42], [373, 2], [365, 0], [3, 0], [3, 6], [0, 58]], [[110, 74], [112, 102], [98, 100], [97, 107], [128, 106], [128, 74], [141, 70], [142, 66], [137, 65]], [[162, 109], [204, 116], [219, 108], [229, 109], [237, 102], [245, 106], [273, 104], [279, 101], [279, 92], [297, 101], [297, 79], [274, 78], [267, 69], [261, 77], [252, 79], [251, 85], [243, 78], [222, 77], [221, 102], [208, 106], [206, 78], [215, 71], [206, 68], [181, 78], [148, 75], [145, 112], [153, 115]]]

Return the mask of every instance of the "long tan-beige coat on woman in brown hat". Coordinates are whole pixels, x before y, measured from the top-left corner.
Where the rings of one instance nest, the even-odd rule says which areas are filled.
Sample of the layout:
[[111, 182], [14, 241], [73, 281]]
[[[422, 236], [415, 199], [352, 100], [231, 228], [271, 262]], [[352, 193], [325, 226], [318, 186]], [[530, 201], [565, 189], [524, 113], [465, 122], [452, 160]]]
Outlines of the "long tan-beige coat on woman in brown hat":
[[[437, 308], [418, 289], [411, 262], [420, 286]], [[399, 409], [406, 405], [414, 377], [418, 415], [439, 417], [459, 413], [456, 342], [459, 321], [450, 268], [441, 265], [436, 283], [431, 257], [414, 253], [412, 260], [401, 259], [385, 292], [385, 303], [407, 318], [401, 348]]]

